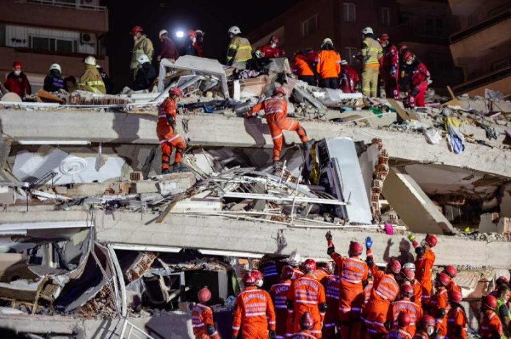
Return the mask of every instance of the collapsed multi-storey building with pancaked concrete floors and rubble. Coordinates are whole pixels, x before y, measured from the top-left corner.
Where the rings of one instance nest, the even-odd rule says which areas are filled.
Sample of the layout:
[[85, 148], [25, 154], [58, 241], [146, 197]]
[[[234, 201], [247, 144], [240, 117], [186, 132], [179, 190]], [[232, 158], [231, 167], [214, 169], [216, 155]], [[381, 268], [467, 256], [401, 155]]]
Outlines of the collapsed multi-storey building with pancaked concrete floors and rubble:
[[[476, 329], [480, 296], [511, 269], [511, 102], [430, 96], [410, 110], [308, 86], [285, 58], [266, 67], [185, 56], [162, 61], [150, 92], [5, 94], [0, 327], [193, 337], [189, 305], [207, 285], [229, 337], [243, 273], [293, 251], [324, 262], [331, 230], [341, 252], [372, 237], [379, 265], [413, 260], [410, 232], [438, 234], [436, 268], [460, 271]], [[281, 85], [316, 143], [305, 151], [285, 132], [273, 173], [266, 121], [242, 115]], [[171, 86], [186, 93], [187, 171], [158, 175], [156, 111]]]

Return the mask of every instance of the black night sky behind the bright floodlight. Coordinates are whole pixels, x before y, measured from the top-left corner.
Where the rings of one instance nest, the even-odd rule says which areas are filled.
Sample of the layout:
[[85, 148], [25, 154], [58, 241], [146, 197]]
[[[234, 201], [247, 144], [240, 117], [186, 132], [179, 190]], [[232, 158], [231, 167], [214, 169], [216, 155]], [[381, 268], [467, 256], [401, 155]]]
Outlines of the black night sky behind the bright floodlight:
[[[151, 39], [155, 54], [160, 50], [158, 32], [169, 31], [176, 41], [174, 32], [200, 29], [204, 32], [205, 57], [225, 63], [229, 38], [227, 30], [233, 25], [240, 27], [242, 35], [250, 33], [271, 18], [298, 3], [298, 0], [278, 1], [164, 1], [164, 0], [110, 0], [110, 32], [107, 39], [107, 54], [110, 58], [110, 77], [115, 92], [131, 85], [129, 69], [133, 38], [131, 28], [140, 25]], [[238, 6], [237, 6], [238, 4]], [[157, 61], [153, 60], [157, 66]]]

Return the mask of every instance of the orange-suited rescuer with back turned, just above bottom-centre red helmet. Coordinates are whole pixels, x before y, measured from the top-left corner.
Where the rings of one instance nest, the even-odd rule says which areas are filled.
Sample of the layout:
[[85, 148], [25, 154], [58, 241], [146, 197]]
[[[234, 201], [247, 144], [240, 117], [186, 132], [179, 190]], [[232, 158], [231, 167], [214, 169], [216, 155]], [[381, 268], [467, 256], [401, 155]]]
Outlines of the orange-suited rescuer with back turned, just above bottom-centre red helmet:
[[321, 327], [327, 311], [327, 299], [323, 285], [314, 276], [316, 262], [313, 259], [307, 259], [303, 268], [305, 275], [295, 279], [289, 288], [287, 296], [288, 310], [294, 315], [295, 332], [298, 332], [300, 328], [301, 315], [309, 312], [313, 321], [311, 334], [321, 339]]

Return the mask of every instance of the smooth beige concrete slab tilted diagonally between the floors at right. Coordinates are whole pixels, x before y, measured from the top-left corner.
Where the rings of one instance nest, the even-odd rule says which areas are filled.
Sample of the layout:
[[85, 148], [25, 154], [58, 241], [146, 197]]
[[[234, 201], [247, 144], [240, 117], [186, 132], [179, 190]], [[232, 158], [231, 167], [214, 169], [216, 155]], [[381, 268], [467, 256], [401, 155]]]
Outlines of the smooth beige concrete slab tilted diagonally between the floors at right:
[[382, 194], [411, 231], [430, 234], [453, 232], [451, 223], [403, 169], [390, 168], [383, 182]]

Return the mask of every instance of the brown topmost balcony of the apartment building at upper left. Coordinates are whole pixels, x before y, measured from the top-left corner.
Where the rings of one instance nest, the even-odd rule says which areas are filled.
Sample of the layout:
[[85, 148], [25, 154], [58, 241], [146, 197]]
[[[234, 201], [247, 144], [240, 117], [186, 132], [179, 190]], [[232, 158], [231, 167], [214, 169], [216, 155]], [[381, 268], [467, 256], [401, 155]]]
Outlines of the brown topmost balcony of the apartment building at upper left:
[[11, 0], [3, 2], [0, 22], [103, 34], [108, 32], [108, 10], [81, 2]]

